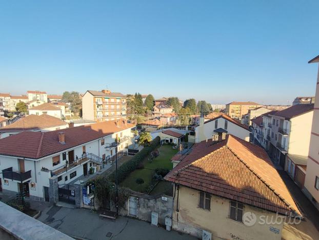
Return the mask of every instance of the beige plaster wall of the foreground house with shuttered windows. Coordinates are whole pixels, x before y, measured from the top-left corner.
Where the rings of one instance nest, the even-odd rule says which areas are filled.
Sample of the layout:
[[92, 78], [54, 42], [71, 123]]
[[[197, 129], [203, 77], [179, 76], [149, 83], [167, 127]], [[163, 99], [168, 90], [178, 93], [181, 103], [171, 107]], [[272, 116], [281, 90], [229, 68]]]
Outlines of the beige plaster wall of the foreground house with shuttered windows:
[[[229, 206], [230, 200], [212, 195], [211, 210], [198, 208], [199, 191], [180, 186], [178, 193], [178, 212], [177, 190], [174, 198], [173, 209], [173, 229], [190, 233], [198, 238], [202, 237], [202, 230], [212, 233], [212, 239], [245, 239], [245, 240], [280, 240], [282, 236], [283, 224], [280, 225], [255, 225], [248, 227], [243, 223], [230, 219]], [[244, 206], [245, 212], [253, 212], [257, 219], [261, 215], [275, 217], [275, 213]], [[258, 221], [258, 220], [257, 220]], [[269, 230], [270, 227], [279, 229], [279, 234]]]

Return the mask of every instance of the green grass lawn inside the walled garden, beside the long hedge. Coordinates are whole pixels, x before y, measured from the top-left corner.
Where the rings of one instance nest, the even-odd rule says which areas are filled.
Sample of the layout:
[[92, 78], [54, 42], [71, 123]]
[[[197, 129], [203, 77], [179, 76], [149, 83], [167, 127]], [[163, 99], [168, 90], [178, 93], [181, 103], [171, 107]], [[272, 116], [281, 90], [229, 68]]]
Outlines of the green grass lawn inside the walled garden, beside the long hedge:
[[[146, 157], [143, 161], [144, 169], [136, 169], [130, 173], [120, 186], [127, 187], [136, 192], [147, 192], [148, 187], [151, 184], [152, 176], [155, 173], [156, 168], [166, 168], [172, 170], [173, 164], [171, 163], [171, 158], [178, 151], [173, 149], [172, 145], [163, 145], [159, 147], [160, 156], [154, 158], [152, 162], [148, 161], [149, 157]], [[144, 180], [143, 184], [137, 184], [136, 179], [142, 178]]]

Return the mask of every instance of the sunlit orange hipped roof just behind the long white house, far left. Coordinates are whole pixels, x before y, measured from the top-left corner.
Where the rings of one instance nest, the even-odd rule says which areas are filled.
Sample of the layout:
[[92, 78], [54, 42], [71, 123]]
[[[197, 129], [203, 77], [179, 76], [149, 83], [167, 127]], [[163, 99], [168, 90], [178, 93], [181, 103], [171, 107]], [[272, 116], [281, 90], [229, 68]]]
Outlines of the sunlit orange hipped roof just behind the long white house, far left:
[[22, 132], [39, 130], [48, 127], [62, 126], [68, 124], [65, 121], [61, 121], [59, 118], [52, 117], [47, 114], [34, 115], [31, 114], [24, 118], [21, 118], [14, 123], [1, 127], [0, 132]]

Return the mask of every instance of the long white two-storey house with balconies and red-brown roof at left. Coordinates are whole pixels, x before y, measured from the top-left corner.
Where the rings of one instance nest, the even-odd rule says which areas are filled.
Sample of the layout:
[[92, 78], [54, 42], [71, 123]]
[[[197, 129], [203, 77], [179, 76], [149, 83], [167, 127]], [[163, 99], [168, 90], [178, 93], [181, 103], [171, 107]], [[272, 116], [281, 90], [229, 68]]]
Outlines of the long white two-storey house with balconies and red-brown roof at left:
[[24, 191], [31, 199], [56, 202], [54, 186], [61, 188], [98, 171], [103, 163], [110, 164], [107, 160], [114, 158], [115, 147], [118, 153], [127, 152], [133, 144], [132, 127], [117, 120], [0, 139], [2, 190]]

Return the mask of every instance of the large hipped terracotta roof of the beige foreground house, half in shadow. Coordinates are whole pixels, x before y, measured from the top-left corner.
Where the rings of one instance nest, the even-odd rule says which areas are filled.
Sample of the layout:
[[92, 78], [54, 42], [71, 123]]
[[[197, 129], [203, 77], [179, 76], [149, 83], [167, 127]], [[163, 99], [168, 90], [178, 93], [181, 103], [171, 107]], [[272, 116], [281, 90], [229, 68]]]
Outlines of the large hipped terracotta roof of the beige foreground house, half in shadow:
[[216, 144], [198, 143], [165, 179], [272, 212], [301, 215], [265, 150], [233, 135]]

